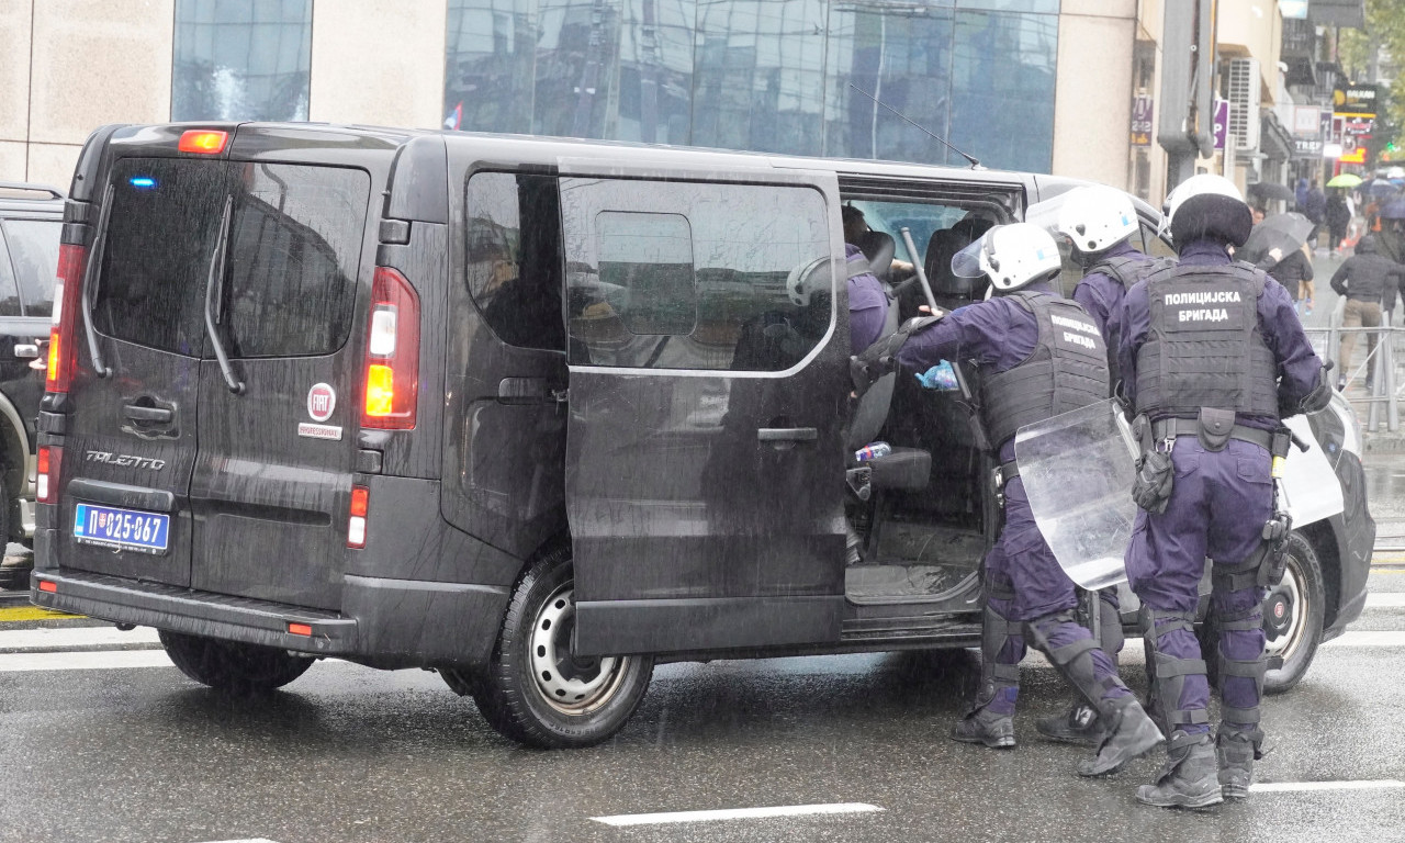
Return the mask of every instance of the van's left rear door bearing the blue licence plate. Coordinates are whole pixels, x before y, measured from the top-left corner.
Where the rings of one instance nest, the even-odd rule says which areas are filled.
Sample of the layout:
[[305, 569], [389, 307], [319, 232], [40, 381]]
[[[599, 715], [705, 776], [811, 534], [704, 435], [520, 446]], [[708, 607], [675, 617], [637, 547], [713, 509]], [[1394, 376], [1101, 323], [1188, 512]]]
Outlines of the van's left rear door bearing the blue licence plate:
[[65, 568], [188, 586], [201, 303], [228, 164], [174, 157], [178, 131], [166, 135], [114, 140], [108, 177], [93, 191], [87, 292], [108, 371], [94, 371], [83, 316], [65, 315], [76, 326], [76, 348], [66, 350], [76, 365], [58, 541]]

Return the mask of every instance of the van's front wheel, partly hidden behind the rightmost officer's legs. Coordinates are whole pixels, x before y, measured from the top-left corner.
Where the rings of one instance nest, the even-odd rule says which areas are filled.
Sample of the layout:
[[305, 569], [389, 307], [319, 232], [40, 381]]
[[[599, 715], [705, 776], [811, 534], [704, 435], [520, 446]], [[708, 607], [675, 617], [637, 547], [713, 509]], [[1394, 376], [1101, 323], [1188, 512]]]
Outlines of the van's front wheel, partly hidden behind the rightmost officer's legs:
[[[1322, 562], [1318, 561], [1312, 542], [1301, 532], [1288, 535], [1287, 555], [1283, 579], [1269, 589], [1269, 596], [1263, 600], [1264, 649], [1269, 658], [1283, 659], [1283, 667], [1264, 674], [1264, 694], [1281, 694], [1298, 684], [1322, 643], [1326, 617]], [[1205, 653], [1213, 684], [1218, 684], [1218, 646], [1220, 631], [1214, 613], [1210, 613], [1200, 628], [1200, 648]]]

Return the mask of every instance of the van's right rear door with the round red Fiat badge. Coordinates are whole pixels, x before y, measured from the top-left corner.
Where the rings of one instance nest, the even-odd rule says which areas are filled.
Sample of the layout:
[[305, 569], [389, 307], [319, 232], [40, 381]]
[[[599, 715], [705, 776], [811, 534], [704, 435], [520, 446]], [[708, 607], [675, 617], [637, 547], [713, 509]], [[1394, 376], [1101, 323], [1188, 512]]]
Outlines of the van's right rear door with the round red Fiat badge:
[[[191, 586], [339, 608], [364, 353], [354, 326], [365, 327], [357, 302], [375, 249], [367, 221], [395, 146], [287, 133], [242, 126], [232, 143], [209, 341], [228, 365], [207, 354], [198, 377]], [[381, 170], [375, 194], [367, 167]]]

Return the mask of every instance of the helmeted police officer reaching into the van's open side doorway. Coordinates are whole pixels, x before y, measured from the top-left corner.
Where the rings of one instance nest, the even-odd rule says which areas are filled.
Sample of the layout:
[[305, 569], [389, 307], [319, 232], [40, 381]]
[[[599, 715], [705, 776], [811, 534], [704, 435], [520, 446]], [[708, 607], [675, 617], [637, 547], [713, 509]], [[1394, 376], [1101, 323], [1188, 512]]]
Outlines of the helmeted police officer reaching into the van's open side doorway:
[[981, 375], [981, 416], [1002, 464], [1005, 527], [985, 559], [981, 688], [951, 736], [1014, 746], [1019, 662], [1028, 641], [1106, 725], [1097, 756], [1079, 766], [1083, 776], [1106, 776], [1154, 749], [1162, 735], [1087, 628], [1073, 620], [1073, 583], [1034, 523], [1014, 464], [1017, 429], [1107, 398], [1102, 336], [1078, 303], [1054, 292], [1059, 270], [1058, 246], [1047, 230], [1033, 223], [995, 226], [953, 260], [958, 275], [986, 274], [995, 298], [932, 326], [919, 320], [915, 329], [909, 322], [857, 361], [895, 355], [916, 372], [941, 360], [972, 361]]

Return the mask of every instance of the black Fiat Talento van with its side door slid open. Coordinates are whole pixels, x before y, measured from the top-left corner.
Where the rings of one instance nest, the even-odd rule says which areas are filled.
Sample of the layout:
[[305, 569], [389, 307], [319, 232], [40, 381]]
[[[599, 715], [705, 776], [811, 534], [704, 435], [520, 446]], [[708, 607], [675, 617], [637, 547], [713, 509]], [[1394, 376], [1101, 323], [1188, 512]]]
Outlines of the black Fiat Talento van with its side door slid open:
[[[104, 126], [65, 215], [34, 600], [156, 627], [219, 688], [318, 656], [437, 669], [537, 746], [613, 735], [662, 660], [969, 645], [993, 466], [958, 393], [899, 377], [851, 406], [840, 205], [874, 228], [858, 246], [895, 325], [922, 301], [894, 277], [903, 229], [957, 306], [984, 294], [950, 273], [961, 232], [1069, 187]], [[1360, 613], [1374, 537], [1350, 409], [1300, 422], [1336, 496], [1270, 596], [1280, 687]], [[850, 472], [877, 438], [894, 454]]]

